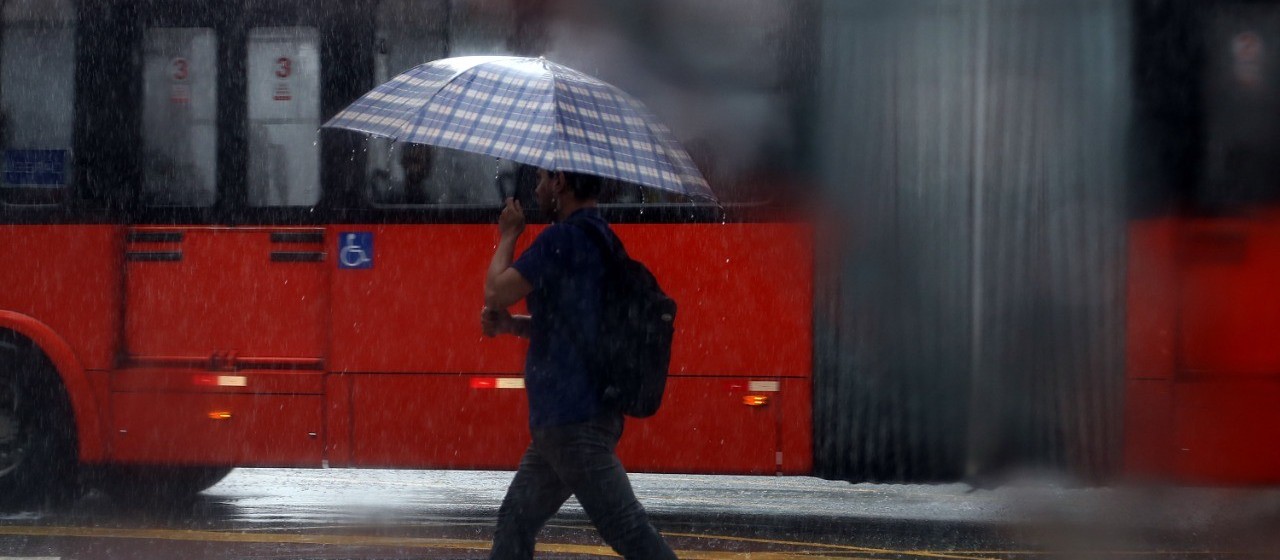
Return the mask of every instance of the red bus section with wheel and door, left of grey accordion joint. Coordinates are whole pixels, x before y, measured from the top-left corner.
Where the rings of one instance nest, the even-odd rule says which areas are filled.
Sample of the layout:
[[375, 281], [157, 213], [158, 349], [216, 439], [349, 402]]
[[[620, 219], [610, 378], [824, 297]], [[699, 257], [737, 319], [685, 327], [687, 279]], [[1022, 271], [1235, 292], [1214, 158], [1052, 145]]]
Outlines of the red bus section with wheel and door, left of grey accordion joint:
[[[494, 160], [438, 152], [410, 199], [412, 150], [317, 133], [445, 54], [403, 4], [5, 8], [0, 496], [517, 464], [524, 346], [477, 322]], [[810, 472], [809, 228], [640, 192], [604, 212], [680, 304], [628, 468]]]

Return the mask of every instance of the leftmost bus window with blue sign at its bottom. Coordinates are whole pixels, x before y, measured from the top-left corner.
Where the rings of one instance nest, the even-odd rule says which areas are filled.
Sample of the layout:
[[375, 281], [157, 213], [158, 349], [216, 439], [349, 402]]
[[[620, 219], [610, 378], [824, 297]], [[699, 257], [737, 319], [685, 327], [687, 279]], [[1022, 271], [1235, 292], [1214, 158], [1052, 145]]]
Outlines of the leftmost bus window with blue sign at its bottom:
[[0, 33], [0, 201], [60, 202], [72, 180], [76, 13], [70, 1], [8, 1]]

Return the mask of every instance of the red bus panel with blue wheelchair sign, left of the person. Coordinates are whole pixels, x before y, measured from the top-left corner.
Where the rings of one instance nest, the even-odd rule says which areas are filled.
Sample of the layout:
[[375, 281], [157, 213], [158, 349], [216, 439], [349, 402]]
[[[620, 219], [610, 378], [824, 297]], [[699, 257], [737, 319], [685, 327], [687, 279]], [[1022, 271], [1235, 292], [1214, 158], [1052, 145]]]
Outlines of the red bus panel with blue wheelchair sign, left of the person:
[[[340, 372], [357, 467], [512, 468], [529, 441], [525, 394], [472, 390], [471, 378], [518, 377], [525, 341], [480, 334], [489, 225], [334, 226], [330, 369]], [[538, 228], [530, 228], [521, 248]], [[344, 267], [352, 234], [367, 267]], [[365, 237], [367, 234], [367, 237]], [[333, 422], [333, 421], [330, 421]]]

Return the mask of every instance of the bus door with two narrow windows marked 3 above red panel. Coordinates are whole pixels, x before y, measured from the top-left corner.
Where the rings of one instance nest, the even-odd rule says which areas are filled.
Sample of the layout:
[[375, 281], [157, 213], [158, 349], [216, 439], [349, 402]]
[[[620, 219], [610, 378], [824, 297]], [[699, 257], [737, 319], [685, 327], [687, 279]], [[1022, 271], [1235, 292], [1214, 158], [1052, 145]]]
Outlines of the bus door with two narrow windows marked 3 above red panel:
[[[243, 41], [224, 55], [242, 54], [246, 64], [219, 64], [225, 37]], [[319, 199], [317, 33], [154, 27], [141, 50], [141, 202], [169, 211], [177, 225], [134, 225], [125, 238], [113, 454], [138, 463], [320, 464], [324, 228], [237, 217], [289, 216]], [[228, 100], [244, 102], [234, 125], [219, 116]], [[243, 130], [244, 143], [219, 138], [228, 130]], [[239, 150], [247, 157], [227, 156]]]

